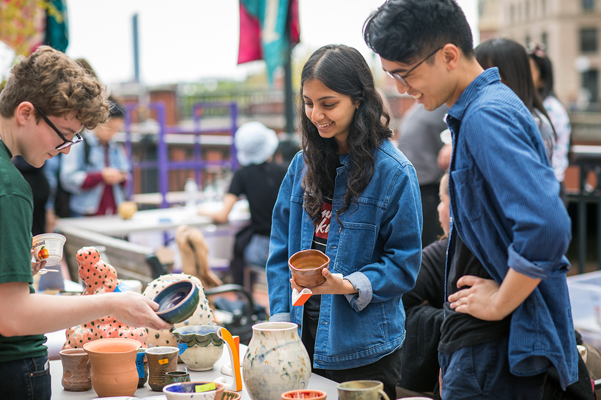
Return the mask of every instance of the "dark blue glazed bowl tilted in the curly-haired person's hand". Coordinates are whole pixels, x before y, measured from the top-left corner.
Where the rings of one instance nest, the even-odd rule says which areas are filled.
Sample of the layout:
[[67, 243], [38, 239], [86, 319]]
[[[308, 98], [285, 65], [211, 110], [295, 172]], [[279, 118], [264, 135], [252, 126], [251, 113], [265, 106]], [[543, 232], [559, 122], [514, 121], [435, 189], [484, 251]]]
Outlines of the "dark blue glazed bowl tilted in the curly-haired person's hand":
[[153, 300], [159, 303], [159, 311], [156, 314], [168, 323], [175, 324], [194, 314], [199, 298], [197, 285], [183, 279], [166, 285]]

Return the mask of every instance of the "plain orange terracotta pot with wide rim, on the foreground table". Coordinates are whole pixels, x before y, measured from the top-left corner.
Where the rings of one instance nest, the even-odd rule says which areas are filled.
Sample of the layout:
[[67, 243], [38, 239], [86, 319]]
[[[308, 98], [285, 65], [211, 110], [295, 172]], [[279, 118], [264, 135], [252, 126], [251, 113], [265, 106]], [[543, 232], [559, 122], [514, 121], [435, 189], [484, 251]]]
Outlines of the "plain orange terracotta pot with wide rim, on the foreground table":
[[133, 339], [97, 339], [84, 344], [92, 367], [92, 386], [99, 397], [133, 396], [138, 388], [136, 354], [140, 342]]

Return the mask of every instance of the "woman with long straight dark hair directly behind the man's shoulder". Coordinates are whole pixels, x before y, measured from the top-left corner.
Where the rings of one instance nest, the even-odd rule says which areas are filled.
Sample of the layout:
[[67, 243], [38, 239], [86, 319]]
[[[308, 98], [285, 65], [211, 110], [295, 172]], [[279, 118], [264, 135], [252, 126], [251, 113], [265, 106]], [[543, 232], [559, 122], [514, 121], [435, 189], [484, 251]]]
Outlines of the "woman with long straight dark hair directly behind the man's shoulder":
[[481, 43], [474, 49], [478, 63], [485, 70], [499, 68], [501, 82], [509, 86], [532, 113], [545, 143], [549, 161], [555, 146], [555, 131], [543, 106], [543, 101], [532, 83], [532, 72], [526, 49], [516, 41], [496, 38]]

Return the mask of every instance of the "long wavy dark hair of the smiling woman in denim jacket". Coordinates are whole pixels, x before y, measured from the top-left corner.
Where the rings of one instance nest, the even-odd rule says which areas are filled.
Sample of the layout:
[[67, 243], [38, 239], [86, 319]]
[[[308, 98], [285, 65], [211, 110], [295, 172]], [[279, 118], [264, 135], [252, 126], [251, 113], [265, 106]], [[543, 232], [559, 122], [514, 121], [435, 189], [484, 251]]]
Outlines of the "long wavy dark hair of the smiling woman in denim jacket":
[[329, 44], [316, 50], [302, 70], [297, 118], [301, 129], [303, 158], [307, 165], [307, 173], [302, 179], [302, 188], [305, 190], [304, 209], [317, 223], [322, 212], [323, 197], [334, 191], [339, 159], [335, 140], [319, 136], [316, 126], [305, 114], [303, 85], [311, 79], [317, 79], [332, 91], [349, 96], [353, 102], [359, 102], [346, 140], [350, 163], [344, 205], [338, 210], [337, 219], [370, 183], [374, 174], [373, 151], [384, 140], [392, 137], [392, 131], [388, 127], [390, 117], [361, 53], [343, 44]]

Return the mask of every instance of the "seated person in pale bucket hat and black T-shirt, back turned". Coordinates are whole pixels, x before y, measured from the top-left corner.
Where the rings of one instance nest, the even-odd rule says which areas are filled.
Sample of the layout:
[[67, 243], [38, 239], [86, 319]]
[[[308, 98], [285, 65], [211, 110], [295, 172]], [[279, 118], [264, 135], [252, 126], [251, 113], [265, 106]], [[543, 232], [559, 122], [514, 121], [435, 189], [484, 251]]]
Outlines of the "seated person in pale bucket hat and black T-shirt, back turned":
[[251, 224], [236, 234], [234, 258], [230, 264], [232, 281], [243, 284], [243, 271], [247, 264], [264, 267], [269, 255], [271, 215], [279, 187], [287, 168], [272, 162], [279, 140], [275, 131], [261, 122], [246, 122], [234, 136], [236, 158], [242, 168], [231, 180], [230, 189], [223, 199], [223, 208], [216, 212], [200, 210], [215, 222], [228, 219], [234, 203], [244, 194], [251, 210]]

